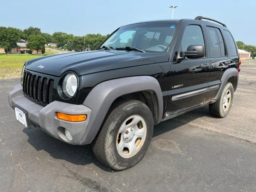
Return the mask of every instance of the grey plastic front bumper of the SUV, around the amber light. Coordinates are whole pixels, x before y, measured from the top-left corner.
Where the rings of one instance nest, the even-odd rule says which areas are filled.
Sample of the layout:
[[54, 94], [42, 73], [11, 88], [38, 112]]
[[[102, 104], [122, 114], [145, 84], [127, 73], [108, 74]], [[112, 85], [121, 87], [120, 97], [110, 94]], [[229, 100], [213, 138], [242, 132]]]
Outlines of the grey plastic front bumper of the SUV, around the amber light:
[[[79, 145], [87, 144], [80, 143], [85, 136], [85, 132], [90, 121], [92, 110], [84, 105], [68, 104], [64, 102], [54, 101], [45, 107], [42, 107], [23, 95], [22, 86], [20, 84], [14, 86], [14, 89], [8, 94], [8, 100], [10, 106], [14, 109], [14, 106], [26, 110], [28, 125], [32, 124], [46, 133], [50, 134], [54, 138], [62, 140], [64, 142]], [[56, 117], [56, 112], [65, 114], [77, 115], [86, 114], [86, 120], [82, 122], [69, 122], [60, 120]], [[68, 141], [64, 130], [67, 129], [73, 137], [72, 141]]]

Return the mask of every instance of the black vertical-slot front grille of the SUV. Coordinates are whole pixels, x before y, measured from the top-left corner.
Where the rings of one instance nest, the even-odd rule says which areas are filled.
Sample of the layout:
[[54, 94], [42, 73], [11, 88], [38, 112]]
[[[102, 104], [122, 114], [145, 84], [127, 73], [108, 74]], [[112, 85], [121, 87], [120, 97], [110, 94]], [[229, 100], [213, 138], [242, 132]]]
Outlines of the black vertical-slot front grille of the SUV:
[[53, 79], [24, 72], [23, 93], [42, 104], [52, 102]]

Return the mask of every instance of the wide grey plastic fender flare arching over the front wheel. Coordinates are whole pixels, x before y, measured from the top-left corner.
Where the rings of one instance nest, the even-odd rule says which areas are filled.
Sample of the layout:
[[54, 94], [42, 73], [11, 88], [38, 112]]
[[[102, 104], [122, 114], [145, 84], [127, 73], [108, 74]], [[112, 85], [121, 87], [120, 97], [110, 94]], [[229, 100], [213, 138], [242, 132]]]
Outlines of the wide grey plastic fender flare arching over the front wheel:
[[108, 80], [96, 85], [83, 102], [83, 105], [92, 109], [92, 114], [80, 145], [92, 142], [116, 98], [139, 91], [149, 91], [155, 95], [157, 105], [155, 106], [155, 109], [157, 109], [157, 117], [155, 118], [156, 123], [160, 123], [163, 116], [163, 97], [160, 84], [156, 78], [135, 76]]

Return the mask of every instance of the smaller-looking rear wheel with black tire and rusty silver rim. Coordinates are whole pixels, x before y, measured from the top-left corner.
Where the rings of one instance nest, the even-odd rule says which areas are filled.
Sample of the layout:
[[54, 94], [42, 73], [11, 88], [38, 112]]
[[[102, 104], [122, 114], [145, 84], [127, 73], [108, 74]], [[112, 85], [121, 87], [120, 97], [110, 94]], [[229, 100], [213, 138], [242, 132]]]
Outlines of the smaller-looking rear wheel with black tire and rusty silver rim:
[[214, 103], [209, 104], [210, 114], [215, 117], [226, 117], [231, 109], [234, 98], [234, 88], [232, 83], [227, 82], [224, 87], [222, 94], [218, 100]]

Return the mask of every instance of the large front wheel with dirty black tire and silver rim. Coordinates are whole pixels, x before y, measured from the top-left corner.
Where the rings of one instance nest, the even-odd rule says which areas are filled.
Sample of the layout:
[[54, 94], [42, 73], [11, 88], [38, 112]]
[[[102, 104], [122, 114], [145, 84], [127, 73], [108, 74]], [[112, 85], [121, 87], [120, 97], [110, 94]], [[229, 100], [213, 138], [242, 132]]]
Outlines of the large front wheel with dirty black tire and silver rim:
[[152, 112], [138, 100], [121, 100], [112, 105], [102, 129], [92, 142], [95, 156], [114, 170], [125, 170], [146, 153], [153, 134]]

